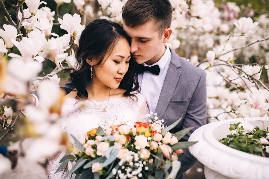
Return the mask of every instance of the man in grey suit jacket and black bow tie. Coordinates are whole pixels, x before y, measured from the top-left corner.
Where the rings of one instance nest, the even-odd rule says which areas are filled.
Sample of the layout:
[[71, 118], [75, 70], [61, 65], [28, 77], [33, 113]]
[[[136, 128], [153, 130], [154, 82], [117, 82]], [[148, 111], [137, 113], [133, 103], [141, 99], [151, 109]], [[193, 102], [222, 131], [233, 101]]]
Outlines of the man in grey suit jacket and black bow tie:
[[[170, 132], [194, 127], [181, 141], [206, 124], [206, 72], [190, 64], [171, 50], [166, 43], [172, 33], [172, 6], [169, 0], [128, 0], [123, 9], [123, 29], [132, 37], [130, 52], [138, 64], [140, 93], [146, 98], [149, 111], [156, 112], [167, 126], [183, 116]], [[74, 89], [68, 82], [66, 94]], [[188, 149], [179, 158], [177, 178], [185, 178], [196, 159]], [[182, 175], [183, 174], [183, 175]]]

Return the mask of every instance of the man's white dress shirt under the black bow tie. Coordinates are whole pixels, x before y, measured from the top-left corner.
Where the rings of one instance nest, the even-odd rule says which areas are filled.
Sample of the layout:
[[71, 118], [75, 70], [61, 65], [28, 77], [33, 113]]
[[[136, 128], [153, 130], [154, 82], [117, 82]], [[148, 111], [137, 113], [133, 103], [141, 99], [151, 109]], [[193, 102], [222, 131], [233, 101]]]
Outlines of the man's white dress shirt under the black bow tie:
[[152, 65], [143, 63], [144, 66], [148, 67], [159, 65], [160, 74], [154, 75], [148, 71], [138, 74], [138, 82], [141, 87], [140, 93], [146, 98], [149, 111], [155, 112], [170, 61], [171, 52], [166, 44], [166, 51], [158, 62]]

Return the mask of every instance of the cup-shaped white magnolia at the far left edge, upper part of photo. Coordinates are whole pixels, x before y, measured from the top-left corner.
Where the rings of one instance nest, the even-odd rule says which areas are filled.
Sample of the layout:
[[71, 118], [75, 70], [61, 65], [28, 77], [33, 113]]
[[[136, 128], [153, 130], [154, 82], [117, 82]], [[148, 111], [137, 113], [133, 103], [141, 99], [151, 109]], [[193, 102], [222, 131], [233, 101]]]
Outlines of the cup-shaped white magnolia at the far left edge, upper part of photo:
[[0, 36], [4, 39], [5, 46], [7, 48], [12, 48], [13, 43], [12, 43], [11, 39], [16, 40], [16, 37], [20, 36], [21, 34], [18, 34], [16, 27], [14, 27], [13, 25], [4, 24], [3, 28], [4, 28], [4, 30], [0, 29]]

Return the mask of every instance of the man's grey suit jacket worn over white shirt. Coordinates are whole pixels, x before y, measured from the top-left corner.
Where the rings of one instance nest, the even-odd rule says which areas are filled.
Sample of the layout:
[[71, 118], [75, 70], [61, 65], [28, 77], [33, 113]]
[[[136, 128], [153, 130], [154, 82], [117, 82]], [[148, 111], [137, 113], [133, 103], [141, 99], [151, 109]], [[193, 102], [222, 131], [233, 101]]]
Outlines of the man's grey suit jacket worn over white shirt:
[[[172, 58], [155, 112], [164, 119], [167, 126], [183, 116], [180, 123], [170, 132], [175, 133], [187, 127], [194, 127], [181, 139], [188, 141], [195, 129], [206, 124], [206, 72], [180, 58], [173, 50], [170, 51]], [[62, 88], [68, 94], [75, 87], [69, 81]], [[183, 173], [196, 163], [196, 158], [188, 149], [184, 149], [184, 155], [179, 161], [184, 169], [180, 169], [177, 178], [185, 178]]]

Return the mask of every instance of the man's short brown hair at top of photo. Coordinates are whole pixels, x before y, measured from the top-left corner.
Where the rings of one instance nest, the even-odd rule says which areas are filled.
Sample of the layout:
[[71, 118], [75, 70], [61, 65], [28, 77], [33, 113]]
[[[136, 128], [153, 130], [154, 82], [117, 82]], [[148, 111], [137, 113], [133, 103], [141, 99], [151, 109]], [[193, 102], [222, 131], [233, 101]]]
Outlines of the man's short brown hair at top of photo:
[[123, 22], [130, 27], [153, 20], [161, 35], [172, 22], [173, 8], [169, 0], [128, 0], [123, 8]]

